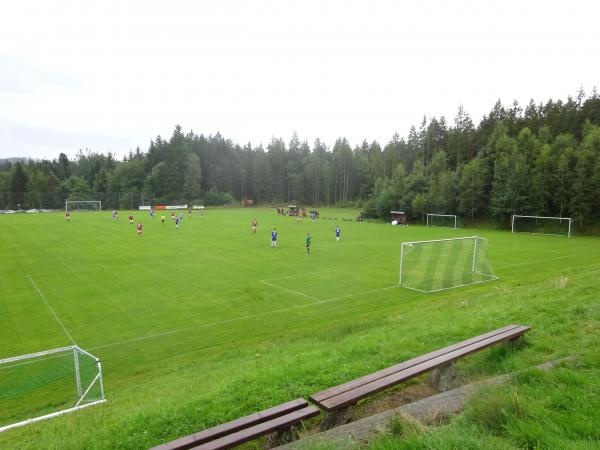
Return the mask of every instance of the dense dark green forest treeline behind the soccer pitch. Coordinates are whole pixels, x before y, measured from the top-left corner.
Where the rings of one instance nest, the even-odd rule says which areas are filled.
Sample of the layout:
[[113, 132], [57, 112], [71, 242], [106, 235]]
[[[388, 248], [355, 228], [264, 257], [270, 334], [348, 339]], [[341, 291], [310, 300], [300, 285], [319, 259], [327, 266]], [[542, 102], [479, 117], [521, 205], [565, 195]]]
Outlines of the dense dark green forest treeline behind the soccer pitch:
[[407, 138], [395, 134], [352, 148], [312, 148], [294, 135], [266, 148], [237, 145], [220, 134], [158, 136], [122, 161], [80, 151], [53, 161], [5, 161], [0, 208], [57, 208], [65, 199], [105, 207], [152, 202], [208, 205], [253, 199], [302, 205], [360, 203], [372, 216], [392, 209], [414, 219], [427, 212], [505, 222], [512, 213], [571, 216], [579, 226], [600, 218], [600, 96], [566, 102], [500, 101], [475, 125], [462, 107], [453, 124], [423, 119]]

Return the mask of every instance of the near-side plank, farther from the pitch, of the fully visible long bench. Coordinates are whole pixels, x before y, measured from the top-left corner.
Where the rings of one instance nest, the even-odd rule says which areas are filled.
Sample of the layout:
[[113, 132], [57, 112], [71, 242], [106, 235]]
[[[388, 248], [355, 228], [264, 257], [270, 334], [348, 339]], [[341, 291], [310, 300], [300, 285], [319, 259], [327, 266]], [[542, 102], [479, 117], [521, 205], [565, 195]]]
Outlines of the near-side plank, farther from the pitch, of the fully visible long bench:
[[520, 326], [513, 330], [505, 331], [504, 333], [488, 337], [487, 339], [472, 343], [462, 348], [458, 348], [451, 352], [447, 352], [435, 358], [421, 361], [420, 363], [411, 365], [404, 370], [392, 373], [383, 378], [379, 378], [371, 383], [357, 386], [352, 390], [344, 391], [339, 395], [329, 397], [322, 402], [316, 403], [327, 412], [335, 411], [344, 406], [355, 404], [359, 400], [362, 400], [363, 398], [366, 398], [372, 394], [388, 389], [404, 381], [408, 381], [411, 378], [417, 377], [423, 373], [429, 372], [432, 369], [450, 364], [458, 358], [481, 351], [500, 342], [515, 339], [519, 336], [522, 336], [529, 330], [529, 327]]

